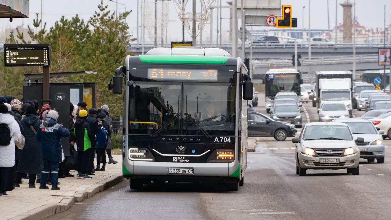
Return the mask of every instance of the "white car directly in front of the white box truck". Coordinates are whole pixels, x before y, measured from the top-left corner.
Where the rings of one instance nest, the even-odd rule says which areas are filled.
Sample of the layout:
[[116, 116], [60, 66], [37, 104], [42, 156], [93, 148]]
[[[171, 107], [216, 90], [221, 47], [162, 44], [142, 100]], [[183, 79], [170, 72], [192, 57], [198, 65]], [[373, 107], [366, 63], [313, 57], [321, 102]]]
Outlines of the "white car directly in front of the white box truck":
[[319, 121], [349, 117], [349, 111], [341, 101], [328, 101], [318, 109]]

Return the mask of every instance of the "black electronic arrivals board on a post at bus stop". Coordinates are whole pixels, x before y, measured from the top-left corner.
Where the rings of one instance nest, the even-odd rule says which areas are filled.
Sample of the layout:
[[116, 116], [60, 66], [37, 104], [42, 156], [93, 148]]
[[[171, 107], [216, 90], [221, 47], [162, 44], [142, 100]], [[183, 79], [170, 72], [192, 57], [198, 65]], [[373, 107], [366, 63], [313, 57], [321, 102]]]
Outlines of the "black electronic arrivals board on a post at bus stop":
[[4, 46], [4, 64], [7, 67], [50, 66], [48, 46]]

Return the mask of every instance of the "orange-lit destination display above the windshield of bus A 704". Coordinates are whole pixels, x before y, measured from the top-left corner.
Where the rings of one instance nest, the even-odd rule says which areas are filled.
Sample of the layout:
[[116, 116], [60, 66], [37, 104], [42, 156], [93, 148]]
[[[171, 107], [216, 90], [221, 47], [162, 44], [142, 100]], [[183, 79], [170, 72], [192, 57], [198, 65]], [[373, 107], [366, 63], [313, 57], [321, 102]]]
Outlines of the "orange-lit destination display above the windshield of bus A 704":
[[217, 70], [148, 69], [148, 79], [217, 81]]

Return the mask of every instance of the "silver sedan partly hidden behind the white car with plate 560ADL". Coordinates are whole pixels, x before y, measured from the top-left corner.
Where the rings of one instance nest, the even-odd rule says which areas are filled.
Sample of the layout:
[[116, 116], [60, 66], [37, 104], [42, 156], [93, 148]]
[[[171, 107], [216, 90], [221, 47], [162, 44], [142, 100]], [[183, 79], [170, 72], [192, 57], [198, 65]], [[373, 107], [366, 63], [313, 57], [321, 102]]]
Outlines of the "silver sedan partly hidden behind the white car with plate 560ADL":
[[376, 128], [370, 121], [361, 118], [338, 119], [337, 122], [345, 123], [353, 133], [353, 137], [362, 137], [364, 142], [357, 144], [360, 150], [360, 158], [368, 162], [384, 163], [383, 130]]

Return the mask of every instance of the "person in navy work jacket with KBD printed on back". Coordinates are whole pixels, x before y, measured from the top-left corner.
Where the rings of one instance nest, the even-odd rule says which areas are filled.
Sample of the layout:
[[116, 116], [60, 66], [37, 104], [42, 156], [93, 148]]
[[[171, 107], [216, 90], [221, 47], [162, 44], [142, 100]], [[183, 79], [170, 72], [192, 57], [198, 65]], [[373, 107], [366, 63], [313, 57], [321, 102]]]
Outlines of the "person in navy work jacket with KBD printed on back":
[[52, 189], [59, 190], [58, 185], [58, 165], [63, 160], [61, 155], [61, 137], [69, 137], [69, 130], [57, 124], [58, 112], [52, 110], [43, 121], [36, 134], [36, 138], [41, 142], [42, 175], [39, 189], [48, 189], [46, 181], [49, 177]]

